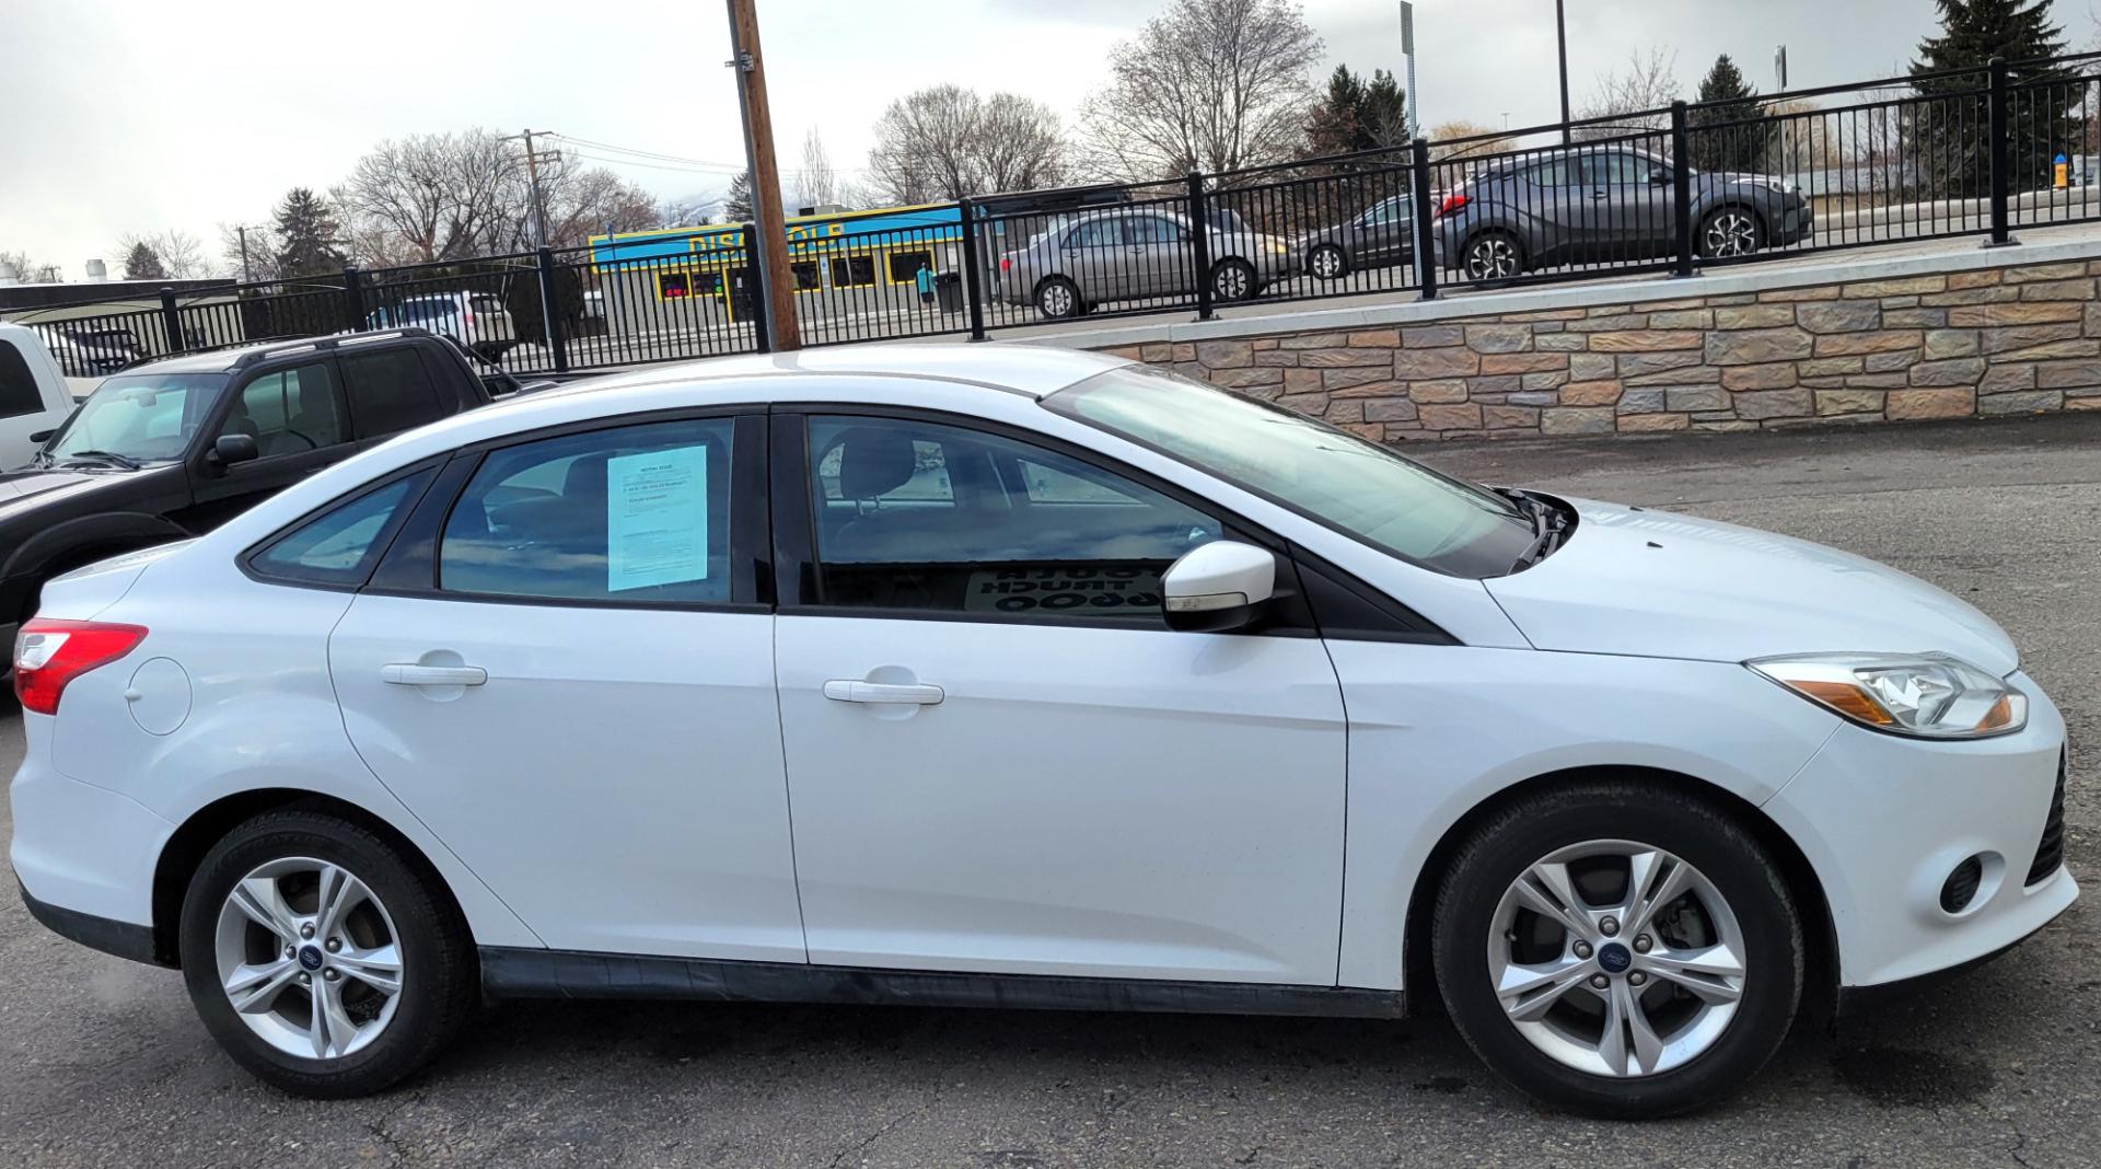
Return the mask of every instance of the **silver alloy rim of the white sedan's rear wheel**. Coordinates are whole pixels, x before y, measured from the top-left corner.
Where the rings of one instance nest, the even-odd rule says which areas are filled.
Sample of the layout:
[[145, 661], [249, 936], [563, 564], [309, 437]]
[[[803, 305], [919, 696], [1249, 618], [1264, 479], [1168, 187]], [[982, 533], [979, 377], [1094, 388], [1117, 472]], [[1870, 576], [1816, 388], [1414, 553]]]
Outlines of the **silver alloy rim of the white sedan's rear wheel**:
[[372, 887], [340, 864], [258, 864], [219, 906], [214, 959], [235, 1016], [303, 1060], [368, 1047], [401, 1005], [401, 940]]

